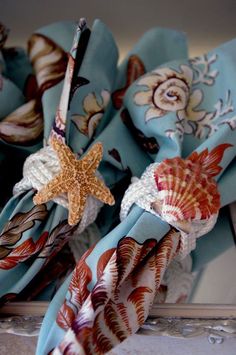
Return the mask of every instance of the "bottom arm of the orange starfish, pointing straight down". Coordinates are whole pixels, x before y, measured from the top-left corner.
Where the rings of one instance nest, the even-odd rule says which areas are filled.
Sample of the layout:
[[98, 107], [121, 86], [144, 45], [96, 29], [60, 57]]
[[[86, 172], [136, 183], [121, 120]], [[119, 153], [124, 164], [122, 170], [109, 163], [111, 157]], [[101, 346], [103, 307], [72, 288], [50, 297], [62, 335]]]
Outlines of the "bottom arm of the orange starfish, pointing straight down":
[[73, 190], [68, 192], [69, 217], [70, 225], [77, 224], [84, 212], [87, 193], [79, 184], [76, 184]]

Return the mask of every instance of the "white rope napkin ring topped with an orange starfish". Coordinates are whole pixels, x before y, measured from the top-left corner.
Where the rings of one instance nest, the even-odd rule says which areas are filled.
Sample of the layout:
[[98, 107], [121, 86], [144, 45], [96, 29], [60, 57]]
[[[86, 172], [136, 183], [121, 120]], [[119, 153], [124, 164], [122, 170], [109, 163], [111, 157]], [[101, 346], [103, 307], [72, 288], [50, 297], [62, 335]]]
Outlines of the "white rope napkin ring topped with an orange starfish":
[[37, 190], [34, 203], [53, 200], [69, 209], [68, 223], [80, 222], [78, 232], [81, 233], [94, 222], [103, 203], [114, 203], [110, 190], [96, 170], [101, 158], [101, 143], [95, 144], [82, 159], [77, 160], [65, 143], [52, 138], [51, 145], [26, 159], [23, 179], [15, 185], [13, 193], [32, 188]]

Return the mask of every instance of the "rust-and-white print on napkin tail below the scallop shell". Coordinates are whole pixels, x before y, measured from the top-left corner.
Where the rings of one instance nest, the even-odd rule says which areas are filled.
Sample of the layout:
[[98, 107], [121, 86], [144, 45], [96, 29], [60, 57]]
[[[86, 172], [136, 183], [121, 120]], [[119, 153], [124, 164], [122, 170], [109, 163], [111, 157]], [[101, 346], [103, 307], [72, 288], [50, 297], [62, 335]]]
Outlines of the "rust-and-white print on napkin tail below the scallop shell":
[[[157, 242], [122, 238], [97, 264], [98, 281], [89, 292], [90, 249], [77, 264], [57, 324], [68, 330], [53, 353], [102, 354], [137, 331], [149, 313], [163, 272], [177, 252], [179, 233], [171, 230]], [[132, 314], [132, 317], [131, 317]]]

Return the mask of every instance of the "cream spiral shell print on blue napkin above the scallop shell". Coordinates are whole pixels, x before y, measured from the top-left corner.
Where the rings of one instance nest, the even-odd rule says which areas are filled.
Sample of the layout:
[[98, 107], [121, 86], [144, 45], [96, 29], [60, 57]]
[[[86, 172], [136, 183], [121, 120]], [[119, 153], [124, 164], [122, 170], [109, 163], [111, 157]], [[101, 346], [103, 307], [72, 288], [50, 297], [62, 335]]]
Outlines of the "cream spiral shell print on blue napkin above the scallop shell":
[[146, 121], [186, 108], [193, 72], [186, 65], [180, 69], [181, 72], [169, 68], [157, 69], [138, 81], [138, 85], [148, 87], [148, 90], [139, 91], [134, 96], [137, 105], [149, 105], [145, 113]]

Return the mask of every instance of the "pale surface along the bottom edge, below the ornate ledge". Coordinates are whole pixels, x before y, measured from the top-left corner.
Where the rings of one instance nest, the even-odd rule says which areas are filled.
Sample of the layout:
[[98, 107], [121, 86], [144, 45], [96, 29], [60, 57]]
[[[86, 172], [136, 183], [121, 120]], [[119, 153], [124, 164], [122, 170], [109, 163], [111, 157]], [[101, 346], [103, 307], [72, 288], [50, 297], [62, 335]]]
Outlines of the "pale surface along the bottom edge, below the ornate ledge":
[[[1, 355], [33, 355], [36, 337], [0, 334]], [[205, 336], [178, 339], [163, 336], [134, 335], [120, 344], [109, 355], [235, 355], [236, 339], [226, 339], [222, 344], [210, 344]]]

